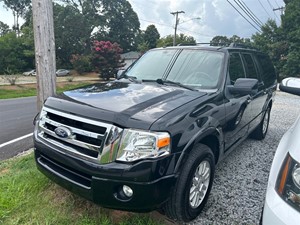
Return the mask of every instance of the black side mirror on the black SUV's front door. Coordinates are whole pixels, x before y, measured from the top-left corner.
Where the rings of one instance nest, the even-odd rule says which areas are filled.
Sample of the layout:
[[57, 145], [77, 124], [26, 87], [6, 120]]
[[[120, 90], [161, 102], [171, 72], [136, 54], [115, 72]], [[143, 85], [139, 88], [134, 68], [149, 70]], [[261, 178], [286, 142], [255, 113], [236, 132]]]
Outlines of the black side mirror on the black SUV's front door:
[[233, 95], [255, 95], [258, 92], [258, 80], [252, 78], [239, 78], [234, 85], [227, 86]]

